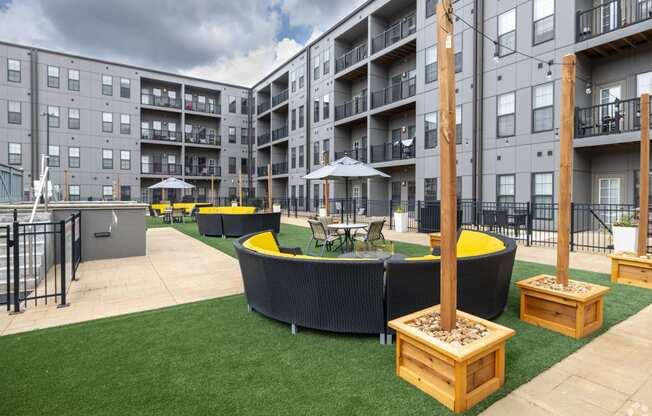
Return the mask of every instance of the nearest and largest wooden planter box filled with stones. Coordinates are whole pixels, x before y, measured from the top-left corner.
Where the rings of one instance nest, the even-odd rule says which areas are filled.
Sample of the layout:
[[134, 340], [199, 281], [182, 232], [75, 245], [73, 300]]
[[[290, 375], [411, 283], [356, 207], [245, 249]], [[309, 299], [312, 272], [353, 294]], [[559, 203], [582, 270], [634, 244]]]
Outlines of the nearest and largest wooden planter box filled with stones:
[[490, 334], [466, 346], [452, 346], [407, 325], [439, 305], [389, 322], [396, 330], [396, 374], [454, 412], [463, 412], [505, 382], [505, 341], [509, 328], [458, 311], [485, 325]]

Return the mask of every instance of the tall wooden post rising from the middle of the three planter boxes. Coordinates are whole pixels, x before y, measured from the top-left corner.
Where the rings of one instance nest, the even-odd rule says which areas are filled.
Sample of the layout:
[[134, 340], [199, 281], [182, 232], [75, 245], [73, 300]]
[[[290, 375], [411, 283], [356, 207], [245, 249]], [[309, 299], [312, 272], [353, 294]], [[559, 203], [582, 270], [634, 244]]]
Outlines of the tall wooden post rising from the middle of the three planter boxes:
[[561, 125], [559, 126], [559, 218], [557, 219], [557, 283], [568, 286], [573, 126], [575, 124], [575, 55], [562, 58]]

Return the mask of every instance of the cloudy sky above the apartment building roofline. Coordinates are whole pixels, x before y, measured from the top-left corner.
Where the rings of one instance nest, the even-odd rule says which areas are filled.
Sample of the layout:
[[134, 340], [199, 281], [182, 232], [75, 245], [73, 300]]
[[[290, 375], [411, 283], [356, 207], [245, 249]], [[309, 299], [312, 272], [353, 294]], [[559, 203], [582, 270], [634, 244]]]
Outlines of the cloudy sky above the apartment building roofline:
[[253, 85], [364, 0], [0, 0], [0, 40]]

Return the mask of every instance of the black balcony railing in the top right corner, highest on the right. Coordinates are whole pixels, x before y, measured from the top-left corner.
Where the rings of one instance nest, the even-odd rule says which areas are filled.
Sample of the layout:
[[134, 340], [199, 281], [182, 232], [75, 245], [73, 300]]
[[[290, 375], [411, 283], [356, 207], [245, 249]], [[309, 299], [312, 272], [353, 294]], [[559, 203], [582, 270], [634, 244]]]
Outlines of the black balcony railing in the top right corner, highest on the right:
[[612, 0], [577, 12], [577, 41], [652, 19], [652, 0]]

